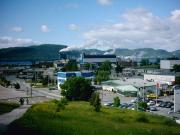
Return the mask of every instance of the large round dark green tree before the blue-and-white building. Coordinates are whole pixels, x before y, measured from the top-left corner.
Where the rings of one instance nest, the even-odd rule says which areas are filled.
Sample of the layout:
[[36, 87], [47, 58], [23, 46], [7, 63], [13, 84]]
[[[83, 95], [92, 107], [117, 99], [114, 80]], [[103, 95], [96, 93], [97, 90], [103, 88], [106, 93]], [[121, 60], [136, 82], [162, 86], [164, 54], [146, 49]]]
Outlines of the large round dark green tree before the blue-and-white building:
[[68, 100], [88, 101], [93, 92], [90, 80], [82, 77], [70, 77], [60, 87], [61, 94]]

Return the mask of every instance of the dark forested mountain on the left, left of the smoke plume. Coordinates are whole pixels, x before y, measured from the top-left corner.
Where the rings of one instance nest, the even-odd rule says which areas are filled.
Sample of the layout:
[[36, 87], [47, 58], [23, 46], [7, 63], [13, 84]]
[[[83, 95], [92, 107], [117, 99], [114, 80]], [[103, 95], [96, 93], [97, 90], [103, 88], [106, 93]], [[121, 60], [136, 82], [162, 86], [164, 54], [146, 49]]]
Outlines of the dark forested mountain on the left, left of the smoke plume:
[[60, 49], [66, 45], [42, 44], [29, 47], [0, 49], [0, 60], [54, 60], [58, 59]]

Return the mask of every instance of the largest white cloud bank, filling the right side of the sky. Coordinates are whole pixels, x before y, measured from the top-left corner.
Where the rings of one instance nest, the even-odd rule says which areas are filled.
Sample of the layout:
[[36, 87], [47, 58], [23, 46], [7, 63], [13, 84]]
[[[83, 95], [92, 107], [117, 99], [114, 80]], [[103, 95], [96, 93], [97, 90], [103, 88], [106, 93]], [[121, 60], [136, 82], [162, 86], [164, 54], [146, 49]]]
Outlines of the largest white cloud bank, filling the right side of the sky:
[[122, 14], [121, 19], [122, 22], [87, 31], [84, 33], [85, 39], [97, 40], [94, 47], [101, 49], [180, 49], [180, 25], [175, 24], [179, 19], [179, 10], [173, 11], [171, 16], [165, 18], [138, 8], [128, 10]]

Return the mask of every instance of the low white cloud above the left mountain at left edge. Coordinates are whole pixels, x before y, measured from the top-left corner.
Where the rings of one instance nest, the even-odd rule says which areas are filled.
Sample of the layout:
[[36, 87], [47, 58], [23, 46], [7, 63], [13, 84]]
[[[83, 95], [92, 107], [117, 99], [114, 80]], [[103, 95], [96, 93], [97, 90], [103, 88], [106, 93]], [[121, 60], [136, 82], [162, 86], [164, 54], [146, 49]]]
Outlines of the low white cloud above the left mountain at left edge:
[[29, 38], [0, 37], [0, 48], [20, 47], [39, 44], [42, 44], [42, 42], [33, 41]]

